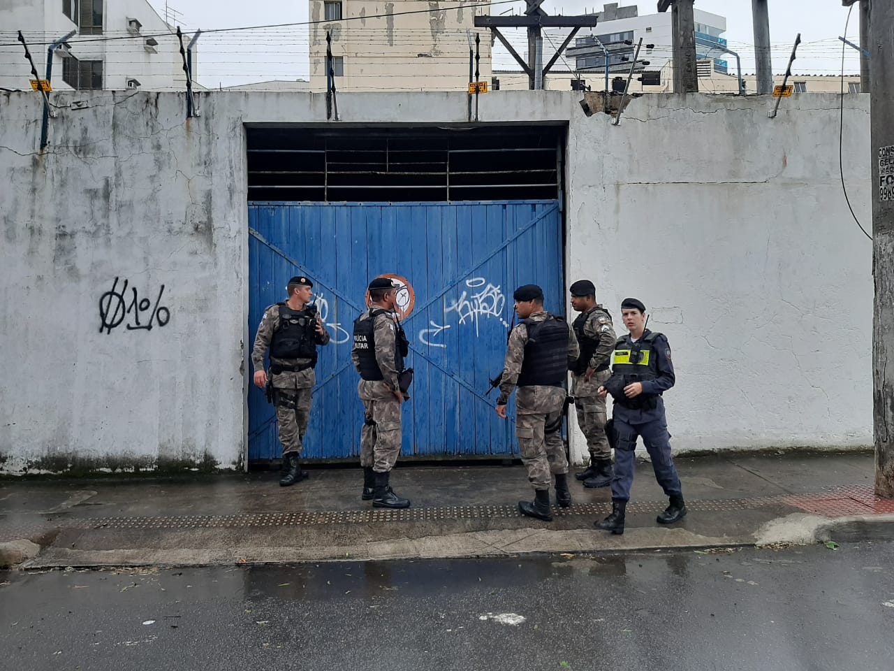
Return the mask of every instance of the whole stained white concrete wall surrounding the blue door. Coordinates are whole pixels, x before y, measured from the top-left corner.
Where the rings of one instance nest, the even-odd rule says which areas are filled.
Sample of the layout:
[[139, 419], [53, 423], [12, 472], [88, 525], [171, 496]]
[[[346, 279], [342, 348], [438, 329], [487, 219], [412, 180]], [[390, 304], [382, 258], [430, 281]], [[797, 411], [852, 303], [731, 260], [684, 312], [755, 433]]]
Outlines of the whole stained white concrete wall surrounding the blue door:
[[[0, 93], [0, 471], [239, 466], [243, 123], [325, 123], [325, 97], [199, 98], [187, 122], [178, 94], [59, 94], [40, 156], [40, 99]], [[569, 124], [567, 276], [591, 277], [615, 315], [637, 296], [669, 336], [674, 446], [870, 444], [871, 245], [841, 195], [838, 98], [789, 99], [770, 120], [768, 98], [656, 95], [620, 127], [579, 99], [493, 93], [480, 114]], [[462, 94], [358, 93], [339, 111], [342, 126], [464, 123], [467, 107]], [[867, 122], [866, 98], [848, 97], [844, 171], [864, 225]], [[162, 285], [168, 313], [129, 329]]]

